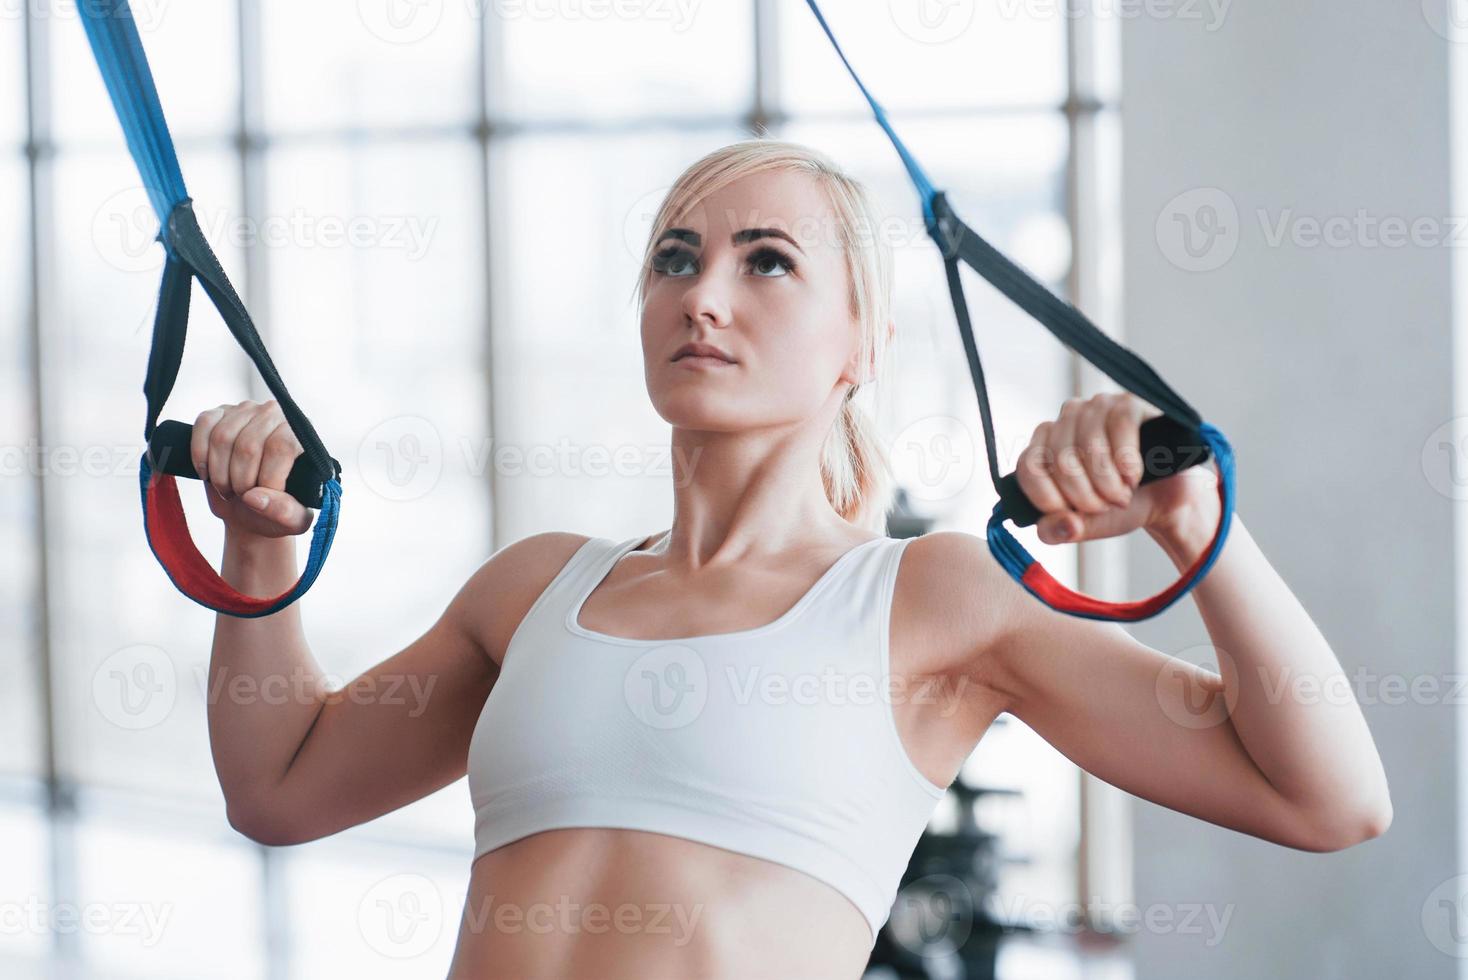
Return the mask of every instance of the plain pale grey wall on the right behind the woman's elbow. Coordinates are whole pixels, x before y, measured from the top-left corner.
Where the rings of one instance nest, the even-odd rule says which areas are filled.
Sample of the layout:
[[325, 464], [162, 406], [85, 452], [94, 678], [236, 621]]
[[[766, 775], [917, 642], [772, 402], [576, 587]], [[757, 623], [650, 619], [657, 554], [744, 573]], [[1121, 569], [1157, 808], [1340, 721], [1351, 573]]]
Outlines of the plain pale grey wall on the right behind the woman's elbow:
[[[1230, 437], [1239, 515], [1348, 673], [1450, 679], [1453, 502], [1422, 450], [1453, 417], [1452, 248], [1371, 246], [1380, 229], [1346, 229], [1345, 246], [1271, 245], [1258, 216], [1364, 210], [1446, 235], [1449, 43], [1420, 0], [1235, 0], [1221, 21], [1205, 4], [1170, 10], [1123, 23], [1126, 342]], [[1196, 220], [1224, 201], [1173, 202], [1199, 188], [1239, 219], [1188, 271], [1158, 216], [1176, 230], [1173, 213]], [[1132, 547], [1135, 596], [1171, 571], [1145, 537]], [[1174, 654], [1207, 641], [1191, 601], [1135, 635]], [[1384, 700], [1377, 684], [1355, 688]], [[1138, 904], [1233, 905], [1211, 948], [1142, 930], [1138, 977], [1456, 977], [1468, 946], [1442, 952], [1422, 921], [1458, 871], [1461, 709], [1437, 700], [1367, 704], [1396, 817], [1358, 848], [1304, 854], [1138, 802]]]

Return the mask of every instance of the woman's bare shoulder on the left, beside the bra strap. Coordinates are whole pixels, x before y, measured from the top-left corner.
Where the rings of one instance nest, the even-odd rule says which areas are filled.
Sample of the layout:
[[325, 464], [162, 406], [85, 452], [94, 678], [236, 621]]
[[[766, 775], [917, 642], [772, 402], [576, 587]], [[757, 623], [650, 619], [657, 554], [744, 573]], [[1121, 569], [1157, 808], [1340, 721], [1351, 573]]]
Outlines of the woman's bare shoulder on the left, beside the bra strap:
[[571, 531], [543, 531], [506, 544], [470, 575], [462, 599], [465, 626], [499, 665], [520, 621], [550, 579], [592, 538]]

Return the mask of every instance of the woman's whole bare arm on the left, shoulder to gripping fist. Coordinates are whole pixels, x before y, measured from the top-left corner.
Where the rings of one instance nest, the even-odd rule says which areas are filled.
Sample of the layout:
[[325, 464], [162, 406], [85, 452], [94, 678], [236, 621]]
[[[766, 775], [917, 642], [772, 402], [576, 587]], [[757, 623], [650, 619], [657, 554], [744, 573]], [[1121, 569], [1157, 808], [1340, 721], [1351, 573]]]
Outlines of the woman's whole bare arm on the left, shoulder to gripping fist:
[[[275, 596], [298, 578], [292, 535], [311, 516], [282, 491], [298, 453], [273, 402], [220, 406], [194, 424], [194, 465], [225, 521], [220, 574], [247, 594]], [[244, 502], [260, 491], [264, 508]], [[255, 619], [220, 615], [208, 735], [230, 824], [263, 844], [299, 844], [462, 776], [511, 632], [584, 540], [537, 534], [501, 549], [421, 637], [335, 692], [301, 601]]]

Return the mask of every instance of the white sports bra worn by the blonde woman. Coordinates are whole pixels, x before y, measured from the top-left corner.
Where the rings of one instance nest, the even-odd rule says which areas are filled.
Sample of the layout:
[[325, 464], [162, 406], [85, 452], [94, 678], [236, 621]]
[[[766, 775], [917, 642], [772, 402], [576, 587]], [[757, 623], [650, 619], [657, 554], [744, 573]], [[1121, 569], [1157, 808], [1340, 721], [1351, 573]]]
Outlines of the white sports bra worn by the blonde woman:
[[944, 788], [909, 758], [887, 682], [910, 538], [846, 552], [774, 622], [628, 640], [577, 622], [643, 537], [590, 538], [526, 613], [474, 726], [474, 857], [540, 830], [622, 827], [788, 866], [872, 940]]

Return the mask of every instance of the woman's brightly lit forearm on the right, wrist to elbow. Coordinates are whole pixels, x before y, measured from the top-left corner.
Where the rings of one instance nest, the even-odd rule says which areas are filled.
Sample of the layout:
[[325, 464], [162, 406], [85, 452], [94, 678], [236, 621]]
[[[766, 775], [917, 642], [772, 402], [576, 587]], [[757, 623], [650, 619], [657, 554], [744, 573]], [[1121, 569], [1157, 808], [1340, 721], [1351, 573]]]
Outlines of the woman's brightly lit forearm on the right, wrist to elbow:
[[[1182, 571], [1217, 525], [1214, 493], [1149, 534]], [[1386, 773], [1340, 662], [1238, 513], [1192, 596], [1217, 651], [1229, 723], [1274, 789], [1346, 835], [1389, 820]]]

